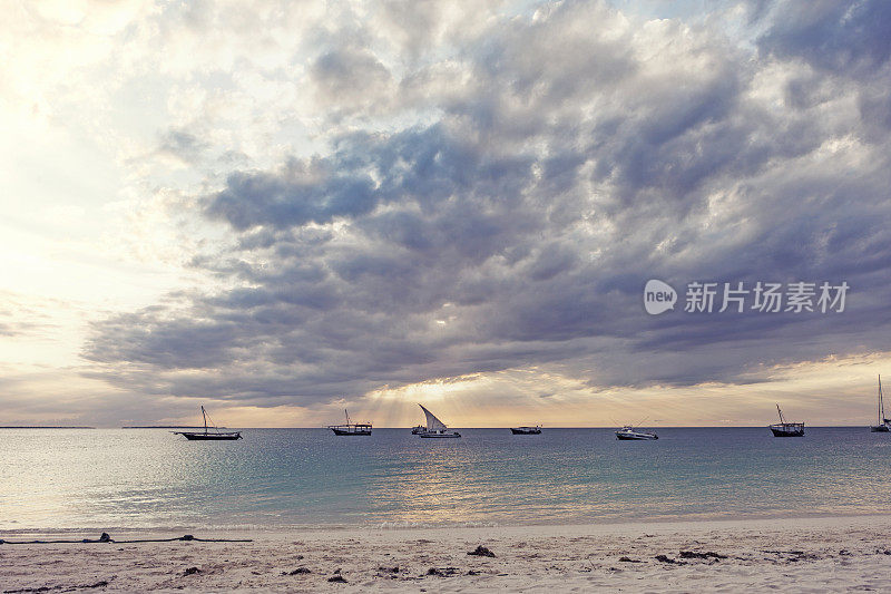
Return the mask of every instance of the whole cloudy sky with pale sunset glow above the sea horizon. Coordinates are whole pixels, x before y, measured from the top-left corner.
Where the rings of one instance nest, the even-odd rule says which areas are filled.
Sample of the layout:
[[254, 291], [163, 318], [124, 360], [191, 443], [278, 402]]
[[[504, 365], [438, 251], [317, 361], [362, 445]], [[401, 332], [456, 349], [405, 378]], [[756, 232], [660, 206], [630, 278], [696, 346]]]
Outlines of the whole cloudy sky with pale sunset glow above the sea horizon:
[[13, 1], [0, 425], [874, 422], [890, 81], [881, 0]]

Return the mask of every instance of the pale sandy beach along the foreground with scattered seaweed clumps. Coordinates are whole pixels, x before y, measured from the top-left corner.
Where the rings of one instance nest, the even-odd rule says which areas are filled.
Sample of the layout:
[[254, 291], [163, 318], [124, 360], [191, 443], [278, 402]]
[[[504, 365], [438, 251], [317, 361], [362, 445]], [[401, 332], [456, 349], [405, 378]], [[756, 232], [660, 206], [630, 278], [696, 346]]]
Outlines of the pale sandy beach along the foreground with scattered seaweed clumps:
[[[891, 537], [885, 536], [891, 534], [891, 516], [254, 535], [194, 533], [202, 537], [249, 536], [255, 541], [3, 544], [0, 591], [891, 591]], [[179, 534], [111, 536], [124, 539]], [[477, 545], [487, 546], [497, 556], [468, 555]], [[684, 559], [682, 551], [712, 552], [727, 558]], [[657, 555], [683, 564], [659, 562]], [[620, 561], [621, 557], [638, 563]], [[187, 575], [189, 567], [198, 571]], [[283, 575], [300, 567], [311, 573]], [[442, 575], [428, 575], [431, 568]], [[336, 569], [345, 584], [329, 582]], [[102, 582], [107, 585], [97, 585]]]

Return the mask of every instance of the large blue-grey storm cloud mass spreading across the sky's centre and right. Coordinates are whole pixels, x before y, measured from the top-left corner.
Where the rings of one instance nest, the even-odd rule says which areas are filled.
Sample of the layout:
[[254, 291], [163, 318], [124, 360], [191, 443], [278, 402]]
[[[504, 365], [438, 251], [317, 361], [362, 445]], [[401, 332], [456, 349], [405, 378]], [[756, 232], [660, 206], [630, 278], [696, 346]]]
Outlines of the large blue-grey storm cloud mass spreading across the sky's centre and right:
[[[757, 56], [600, 4], [500, 22], [384, 101], [435, 121], [228, 175], [202, 207], [236, 246], [194, 265], [238, 288], [101, 321], [86, 356], [151, 393], [277, 405], [531, 366], [593, 386], [748, 382], [762, 363], [891, 348], [888, 137], [863, 116], [884, 117], [889, 91], [850, 82], [887, 58], [863, 10], [882, 9], [777, 20]], [[819, 70], [771, 79], [811, 50]], [[360, 109], [390, 75], [344, 51], [313, 77]], [[461, 85], [422, 90], [457, 68]], [[652, 318], [650, 277], [852, 292], [842, 314]]]

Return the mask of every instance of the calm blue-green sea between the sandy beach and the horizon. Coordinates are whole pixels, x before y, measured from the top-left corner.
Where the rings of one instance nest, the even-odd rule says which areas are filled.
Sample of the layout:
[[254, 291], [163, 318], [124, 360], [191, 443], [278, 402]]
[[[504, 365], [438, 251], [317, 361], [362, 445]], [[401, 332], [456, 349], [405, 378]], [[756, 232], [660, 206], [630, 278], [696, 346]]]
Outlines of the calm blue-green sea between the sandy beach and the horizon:
[[0, 430], [0, 530], [413, 526], [891, 512], [891, 435], [809, 428]]

